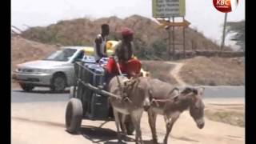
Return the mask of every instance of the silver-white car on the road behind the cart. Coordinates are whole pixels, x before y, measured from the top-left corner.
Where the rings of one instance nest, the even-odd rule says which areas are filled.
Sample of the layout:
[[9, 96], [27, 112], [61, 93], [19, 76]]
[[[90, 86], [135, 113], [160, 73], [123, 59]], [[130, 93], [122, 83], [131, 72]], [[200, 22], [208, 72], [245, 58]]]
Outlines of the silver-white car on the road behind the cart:
[[93, 47], [65, 46], [49, 57], [18, 65], [12, 78], [23, 90], [33, 90], [35, 86], [47, 86], [50, 90], [62, 91], [74, 85], [74, 62], [81, 60]]

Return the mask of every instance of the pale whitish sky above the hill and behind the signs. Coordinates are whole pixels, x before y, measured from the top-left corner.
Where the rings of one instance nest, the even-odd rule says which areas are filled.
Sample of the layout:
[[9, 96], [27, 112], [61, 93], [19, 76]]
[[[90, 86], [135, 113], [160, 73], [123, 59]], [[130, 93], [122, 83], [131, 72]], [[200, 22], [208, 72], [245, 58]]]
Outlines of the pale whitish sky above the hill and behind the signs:
[[[48, 26], [73, 18], [126, 18], [133, 14], [152, 17], [152, 0], [11, 0], [11, 25], [26, 30], [27, 26]], [[191, 28], [221, 43], [224, 13], [214, 8], [213, 0], [186, 0], [186, 16]], [[227, 14], [227, 21], [245, 19], [245, 0]], [[27, 26], [26, 26], [27, 25]], [[234, 42], [226, 37], [226, 45]], [[234, 46], [236, 47], [236, 46]]]

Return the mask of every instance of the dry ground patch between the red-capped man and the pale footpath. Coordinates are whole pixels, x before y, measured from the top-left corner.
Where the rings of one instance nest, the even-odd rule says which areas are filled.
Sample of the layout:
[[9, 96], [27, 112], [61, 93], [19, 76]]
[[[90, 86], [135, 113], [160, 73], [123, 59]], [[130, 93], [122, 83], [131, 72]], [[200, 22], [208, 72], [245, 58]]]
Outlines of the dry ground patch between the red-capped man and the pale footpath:
[[158, 78], [170, 84], [177, 84], [175, 78], [170, 75], [170, 70], [174, 68], [174, 65], [167, 64], [163, 61], [142, 61], [142, 68], [143, 70], [150, 71], [152, 78]]

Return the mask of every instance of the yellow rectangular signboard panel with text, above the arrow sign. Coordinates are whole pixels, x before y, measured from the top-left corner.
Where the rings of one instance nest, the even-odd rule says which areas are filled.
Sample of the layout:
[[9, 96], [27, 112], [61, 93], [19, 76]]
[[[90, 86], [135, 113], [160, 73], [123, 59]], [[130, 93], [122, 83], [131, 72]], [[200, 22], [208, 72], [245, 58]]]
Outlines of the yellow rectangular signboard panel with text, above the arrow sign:
[[183, 17], [185, 0], [152, 0], [152, 13], [154, 18]]

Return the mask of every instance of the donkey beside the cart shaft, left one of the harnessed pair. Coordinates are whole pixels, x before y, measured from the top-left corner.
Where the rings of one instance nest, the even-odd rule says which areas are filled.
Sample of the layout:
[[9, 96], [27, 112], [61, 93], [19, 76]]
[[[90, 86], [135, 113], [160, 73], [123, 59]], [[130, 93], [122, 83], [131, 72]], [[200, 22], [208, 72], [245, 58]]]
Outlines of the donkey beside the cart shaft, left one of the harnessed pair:
[[[118, 78], [117, 78], [118, 77]], [[116, 95], [126, 94], [126, 98], [129, 101], [124, 101], [123, 99], [110, 97], [110, 104], [113, 107], [115, 124], [118, 131], [118, 142], [121, 142], [120, 135], [120, 119], [118, 114], [122, 115], [122, 128], [123, 132], [126, 134], [126, 126], [124, 126], [125, 115], [130, 114], [131, 120], [135, 127], [135, 141], [136, 143], [143, 143], [142, 141], [142, 132], [140, 129], [140, 121], [142, 118], [142, 113], [144, 109], [150, 107], [150, 95], [152, 95], [152, 90], [150, 90], [150, 85], [148, 78], [138, 77], [129, 80], [126, 77], [117, 76], [110, 80], [109, 92]], [[122, 90], [120, 90], [118, 85], [118, 79], [122, 84]]]

